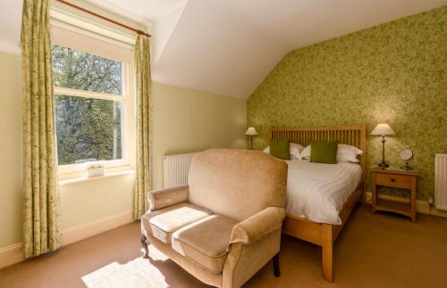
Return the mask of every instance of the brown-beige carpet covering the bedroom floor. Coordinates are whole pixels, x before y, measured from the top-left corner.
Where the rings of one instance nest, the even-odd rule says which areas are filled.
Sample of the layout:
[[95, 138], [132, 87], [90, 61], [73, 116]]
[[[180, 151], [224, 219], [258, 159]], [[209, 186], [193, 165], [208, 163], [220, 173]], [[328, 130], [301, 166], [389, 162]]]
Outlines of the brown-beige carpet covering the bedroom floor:
[[[447, 219], [418, 215], [416, 224], [370, 206], [354, 210], [335, 243], [335, 279], [322, 278], [320, 251], [283, 237], [282, 275], [268, 263], [246, 287], [447, 287]], [[132, 223], [51, 255], [0, 270], [0, 287], [207, 287], [151, 247], [141, 259]]]

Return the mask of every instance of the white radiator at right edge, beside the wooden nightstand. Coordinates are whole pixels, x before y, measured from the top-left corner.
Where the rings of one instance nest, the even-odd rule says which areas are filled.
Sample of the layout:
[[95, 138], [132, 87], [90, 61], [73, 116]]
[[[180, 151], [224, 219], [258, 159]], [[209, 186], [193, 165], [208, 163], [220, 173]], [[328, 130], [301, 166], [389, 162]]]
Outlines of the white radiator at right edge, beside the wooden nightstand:
[[434, 206], [447, 210], [447, 154], [434, 156]]

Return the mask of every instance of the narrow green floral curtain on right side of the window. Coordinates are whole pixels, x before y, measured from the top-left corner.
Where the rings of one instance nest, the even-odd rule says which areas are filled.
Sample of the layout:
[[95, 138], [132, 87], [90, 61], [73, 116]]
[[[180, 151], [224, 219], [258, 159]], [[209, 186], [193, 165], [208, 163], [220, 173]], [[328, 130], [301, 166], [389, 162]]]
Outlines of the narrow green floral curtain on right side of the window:
[[149, 39], [138, 35], [134, 50], [137, 79], [137, 181], [133, 217], [141, 218], [148, 210], [148, 192], [152, 187], [151, 133], [152, 93], [150, 79]]

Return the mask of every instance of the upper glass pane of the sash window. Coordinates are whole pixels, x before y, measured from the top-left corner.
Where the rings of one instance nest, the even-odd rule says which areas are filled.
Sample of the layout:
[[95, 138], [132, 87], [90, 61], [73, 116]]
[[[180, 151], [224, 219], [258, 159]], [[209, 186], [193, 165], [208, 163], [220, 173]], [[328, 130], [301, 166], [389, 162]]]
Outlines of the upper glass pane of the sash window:
[[55, 86], [122, 95], [122, 63], [52, 45]]

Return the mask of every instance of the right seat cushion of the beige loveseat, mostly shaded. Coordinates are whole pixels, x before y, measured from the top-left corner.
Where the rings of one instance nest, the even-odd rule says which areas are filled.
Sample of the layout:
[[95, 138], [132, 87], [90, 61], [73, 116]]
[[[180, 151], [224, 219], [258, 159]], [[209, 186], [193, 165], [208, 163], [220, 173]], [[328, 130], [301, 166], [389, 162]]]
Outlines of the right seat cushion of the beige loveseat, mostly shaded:
[[211, 215], [173, 233], [173, 250], [211, 273], [221, 273], [227, 257], [232, 227], [237, 222]]

